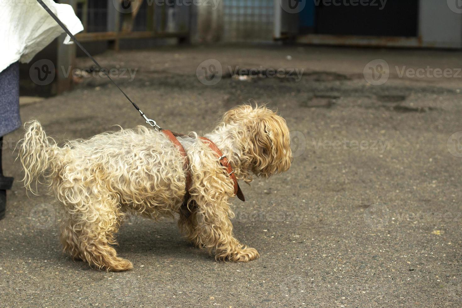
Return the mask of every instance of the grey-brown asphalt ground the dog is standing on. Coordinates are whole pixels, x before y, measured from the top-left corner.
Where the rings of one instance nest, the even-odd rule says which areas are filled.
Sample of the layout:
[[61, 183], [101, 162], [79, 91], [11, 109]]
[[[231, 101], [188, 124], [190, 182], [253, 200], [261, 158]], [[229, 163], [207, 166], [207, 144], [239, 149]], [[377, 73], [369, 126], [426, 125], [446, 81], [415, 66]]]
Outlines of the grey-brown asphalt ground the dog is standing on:
[[[61, 252], [63, 210], [46, 188], [27, 196], [15, 181], [0, 221], [1, 307], [460, 306], [461, 52], [222, 46], [96, 58], [119, 75], [136, 69], [117, 82], [173, 131], [207, 132], [249, 100], [279, 110], [292, 167], [243, 184], [247, 201], [232, 204], [235, 236], [260, 258], [216, 262], [174, 221], [132, 217], [116, 249], [134, 269], [100, 272]], [[386, 63], [368, 64], [376, 59]], [[231, 76], [251, 68], [257, 77]], [[23, 121], [38, 119], [62, 141], [143, 124], [107, 78], [80, 73], [73, 91], [21, 106]], [[20, 134], [3, 145], [5, 174], [17, 180]]]

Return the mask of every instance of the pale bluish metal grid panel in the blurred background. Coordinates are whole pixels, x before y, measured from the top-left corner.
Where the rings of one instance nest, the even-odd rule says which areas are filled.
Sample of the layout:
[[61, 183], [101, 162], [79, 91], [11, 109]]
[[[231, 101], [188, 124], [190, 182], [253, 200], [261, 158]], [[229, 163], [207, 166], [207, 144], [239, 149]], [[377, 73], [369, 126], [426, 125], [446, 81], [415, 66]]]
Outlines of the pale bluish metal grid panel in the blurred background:
[[225, 41], [272, 41], [274, 0], [224, 0], [223, 4]]

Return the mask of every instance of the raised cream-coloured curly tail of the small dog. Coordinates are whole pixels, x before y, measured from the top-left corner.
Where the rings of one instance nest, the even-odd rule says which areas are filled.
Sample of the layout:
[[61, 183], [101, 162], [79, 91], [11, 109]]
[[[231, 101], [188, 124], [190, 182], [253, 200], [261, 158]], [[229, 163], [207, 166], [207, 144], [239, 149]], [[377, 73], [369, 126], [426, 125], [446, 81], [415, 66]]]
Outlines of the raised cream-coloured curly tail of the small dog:
[[[24, 169], [24, 187], [36, 194], [40, 175], [48, 178], [55, 174], [54, 158], [61, 150], [53, 138], [47, 137], [39, 121], [32, 120], [24, 124], [24, 138], [19, 140], [19, 160]], [[48, 172], [47, 172], [48, 171]], [[35, 187], [32, 185], [35, 183]]]

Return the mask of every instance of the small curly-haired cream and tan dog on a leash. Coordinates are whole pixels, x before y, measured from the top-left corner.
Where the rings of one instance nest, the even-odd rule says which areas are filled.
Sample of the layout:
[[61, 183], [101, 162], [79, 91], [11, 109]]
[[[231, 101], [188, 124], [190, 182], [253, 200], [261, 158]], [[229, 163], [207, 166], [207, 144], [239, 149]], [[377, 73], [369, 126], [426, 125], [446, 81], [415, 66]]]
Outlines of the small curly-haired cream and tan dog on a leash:
[[[238, 179], [269, 177], [289, 169], [292, 158], [286, 121], [266, 107], [238, 106], [205, 137], [231, 161]], [[178, 226], [199, 248], [217, 260], [250, 261], [258, 252], [232, 233], [229, 198], [233, 181], [214, 152], [197, 134], [178, 138], [192, 175], [189, 207], [182, 215], [185, 171], [178, 148], [161, 132], [139, 126], [101, 133], [59, 147], [38, 121], [25, 124], [19, 157], [24, 185], [43, 175], [65, 208], [61, 225], [64, 251], [107, 271], [133, 268], [111, 246], [124, 218], [133, 213], [157, 220], [180, 214]]]

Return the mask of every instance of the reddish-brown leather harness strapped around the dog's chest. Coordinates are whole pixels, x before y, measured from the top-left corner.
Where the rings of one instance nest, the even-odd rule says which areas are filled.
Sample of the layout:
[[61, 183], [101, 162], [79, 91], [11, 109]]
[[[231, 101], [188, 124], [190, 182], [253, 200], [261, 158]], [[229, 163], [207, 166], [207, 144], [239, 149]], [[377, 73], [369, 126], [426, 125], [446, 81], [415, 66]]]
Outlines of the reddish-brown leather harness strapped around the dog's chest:
[[[176, 137], [183, 137], [187, 136], [181, 133], [173, 133], [169, 131], [168, 129], [162, 129], [162, 133], [167, 136], [170, 141], [176, 145], [176, 148], [178, 151], [180, 151], [181, 156], [184, 158], [184, 163], [183, 163], [183, 170], [186, 174], [186, 193], [183, 198], [183, 203], [182, 203], [182, 213], [186, 215], [187, 217], [190, 215], [190, 210], [188, 209], [188, 200], [190, 198], [189, 190], [192, 185], [192, 176], [191, 176], [191, 171], [189, 169], [189, 158], [188, 154], [184, 150], [184, 147], [181, 145], [181, 143], [176, 139]], [[231, 163], [228, 160], [228, 158], [223, 155], [223, 153], [220, 151], [220, 149], [213, 143], [212, 140], [207, 139], [205, 137], [199, 137], [201, 141], [205, 144], [208, 145], [210, 149], [212, 149], [213, 153], [215, 154], [215, 157], [218, 158], [219, 163], [226, 168], [226, 173], [228, 174], [229, 177], [231, 177], [233, 183], [234, 183], [234, 194], [237, 196], [237, 198], [241, 199], [242, 201], [245, 201], [244, 194], [242, 193], [241, 187], [239, 187], [239, 184], [237, 183], [237, 178], [236, 175], [234, 174], [234, 171], [231, 167]]]

